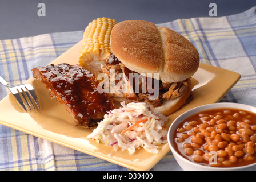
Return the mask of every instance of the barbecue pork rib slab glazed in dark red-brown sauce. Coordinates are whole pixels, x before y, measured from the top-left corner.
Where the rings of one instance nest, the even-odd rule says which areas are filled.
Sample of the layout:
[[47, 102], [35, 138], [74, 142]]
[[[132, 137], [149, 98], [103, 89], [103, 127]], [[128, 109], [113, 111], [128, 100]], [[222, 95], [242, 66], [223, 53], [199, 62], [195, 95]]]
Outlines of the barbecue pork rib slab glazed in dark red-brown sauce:
[[79, 65], [50, 64], [31, 69], [33, 77], [46, 85], [52, 98], [57, 98], [78, 126], [94, 127], [103, 116], [115, 109], [113, 100], [97, 90], [94, 73]]

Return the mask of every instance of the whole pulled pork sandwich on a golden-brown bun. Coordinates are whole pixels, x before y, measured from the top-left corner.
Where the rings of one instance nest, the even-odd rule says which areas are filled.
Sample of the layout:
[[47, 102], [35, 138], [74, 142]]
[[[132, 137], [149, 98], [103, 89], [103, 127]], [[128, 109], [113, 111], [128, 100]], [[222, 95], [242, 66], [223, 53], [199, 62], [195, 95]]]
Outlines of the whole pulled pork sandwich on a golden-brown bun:
[[[199, 54], [185, 37], [151, 22], [126, 20], [113, 27], [110, 47], [111, 54], [102, 63], [102, 71], [110, 80], [111, 73], [115, 77], [123, 75], [119, 88], [129, 91], [110, 92], [113, 100], [146, 102], [165, 115], [178, 110], [189, 100], [190, 77], [199, 67]], [[134, 74], [141, 75], [140, 79], [135, 80]], [[115, 86], [119, 84], [117, 80], [115, 78]], [[143, 89], [145, 83], [147, 87]], [[109, 81], [110, 88], [111, 84], [113, 86]], [[139, 88], [135, 88], [136, 85]]]

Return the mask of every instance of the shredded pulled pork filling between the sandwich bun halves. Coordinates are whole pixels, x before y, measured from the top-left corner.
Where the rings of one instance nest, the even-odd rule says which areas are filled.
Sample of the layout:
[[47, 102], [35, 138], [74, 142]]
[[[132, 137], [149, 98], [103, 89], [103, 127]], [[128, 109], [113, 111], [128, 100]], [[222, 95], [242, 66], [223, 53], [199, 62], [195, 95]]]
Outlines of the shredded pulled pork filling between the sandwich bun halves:
[[[112, 70], [112, 73], [111, 73]], [[106, 65], [102, 65], [102, 71], [103, 73], [106, 73], [109, 76], [110, 81], [114, 81], [114, 85], [110, 85], [109, 82], [109, 88], [111, 86], [115, 86], [117, 82], [120, 80], [113, 80], [115, 77], [121, 73], [123, 81], [121, 85], [121, 89], [125, 89], [126, 92], [118, 92], [119, 90], [115, 89], [114, 93], [109, 93], [110, 97], [113, 98], [115, 101], [126, 101], [126, 102], [146, 102], [150, 105], [153, 105], [153, 107], [159, 107], [162, 105], [163, 100], [172, 100], [174, 98], [177, 98], [181, 96], [185, 90], [187, 89], [188, 80], [183, 80], [180, 82], [174, 82], [174, 83], [163, 83], [161, 80], [159, 80], [159, 94], [157, 98], [151, 98], [148, 90], [145, 92], [139, 92], [135, 93], [134, 89], [134, 82], [131, 83], [129, 81], [129, 73], [136, 73], [131, 71], [130, 69], [126, 68], [124, 64], [122, 64], [117, 57], [114, 56], [113, 53], [111, 53], [109, 59], [106, 61]], [[113, 72], [114, 71], [114, 72]], [[112, 77], [111, 77], [112, 74]], [[146, 79], [145, 79], [146, 80]], [[151, 85], [154, 88], [154, 78], [152, 78], [152, 84]], [[142, 84], [143, 80], [140, 80], [139, 82], [139, 91], [142, 91]]]

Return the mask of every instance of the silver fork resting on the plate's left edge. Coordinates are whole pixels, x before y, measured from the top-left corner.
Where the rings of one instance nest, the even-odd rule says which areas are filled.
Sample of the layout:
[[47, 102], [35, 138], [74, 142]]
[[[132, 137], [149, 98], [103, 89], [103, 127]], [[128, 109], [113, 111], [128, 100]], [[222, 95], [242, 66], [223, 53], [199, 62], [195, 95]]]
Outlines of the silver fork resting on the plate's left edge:
[[39, 102], [37, 99], [37, 95], [35, 94], [35, 90], [32, 85], [22, 84], [17, 86], [9, 86], [9, 84], [1, 76], [0, 76], [0, 82], [10, 90], [10, 92], [16, 98], [16, 100], [18, 101], [19, 105], [21, 105], [23, 110], [27, 111], [26, 109], [27, 107], [31, 111], [30, 106], [33, 106], [33, 108], [35, 109], [35, 105], [39, 109]]

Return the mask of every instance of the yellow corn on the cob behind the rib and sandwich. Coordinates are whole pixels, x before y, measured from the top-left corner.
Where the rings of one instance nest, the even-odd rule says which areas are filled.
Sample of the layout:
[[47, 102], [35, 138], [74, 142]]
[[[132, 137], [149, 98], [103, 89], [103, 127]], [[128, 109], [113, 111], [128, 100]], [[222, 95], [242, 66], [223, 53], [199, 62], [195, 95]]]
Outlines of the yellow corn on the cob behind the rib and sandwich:
[[114, 19], [105, 17], [88, 24], [83, 33], [79, 64], [91, 72], [101, 72], [101, 64], [110, 56], [110, 34], [115, 24]]

